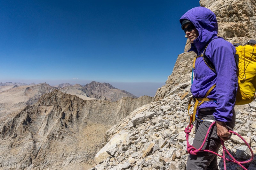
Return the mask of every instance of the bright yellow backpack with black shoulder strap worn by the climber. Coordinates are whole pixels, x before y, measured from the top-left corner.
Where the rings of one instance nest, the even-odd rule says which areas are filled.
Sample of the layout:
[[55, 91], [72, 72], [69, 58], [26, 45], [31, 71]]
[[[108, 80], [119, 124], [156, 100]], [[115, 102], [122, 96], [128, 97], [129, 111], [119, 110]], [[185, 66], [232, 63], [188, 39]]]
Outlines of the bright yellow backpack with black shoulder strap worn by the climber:
[[[238, 78], [235, 105], [244, 105], [253, 101], [256, 91], [256, 41], [250, 40], [244, 45], [236, 42], [234, 46]], [[211, 61], [205, 54], [203, 57], [206, 65], [216, 73]]]

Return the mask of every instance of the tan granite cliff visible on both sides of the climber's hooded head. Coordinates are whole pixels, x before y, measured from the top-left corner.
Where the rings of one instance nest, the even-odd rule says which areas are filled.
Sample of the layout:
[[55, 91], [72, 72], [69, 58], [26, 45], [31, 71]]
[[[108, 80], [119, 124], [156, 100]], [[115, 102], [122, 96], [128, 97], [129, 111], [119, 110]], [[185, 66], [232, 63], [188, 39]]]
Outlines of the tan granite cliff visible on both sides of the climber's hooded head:
[[[250, 39], [256, 39], [256, 2], [255, 0], [200, 0], [201, 6], [212, 10], [217, 17], [219, 33], [218, 36], [234, 43], [244, 44]], [[183, 37], [181, 37], [183, 38]], [[184, 44], [185, 45], [185, 44]], [[192, 60], [195, 53], [187, 53], [190, 42], [185, 45], [185, 53], [180, 54], [174, 65], [171, 76], [166, 84], [157, 89], [154, 101], [164, 99], [176, 88], [179, 82], [191, 82]]]

